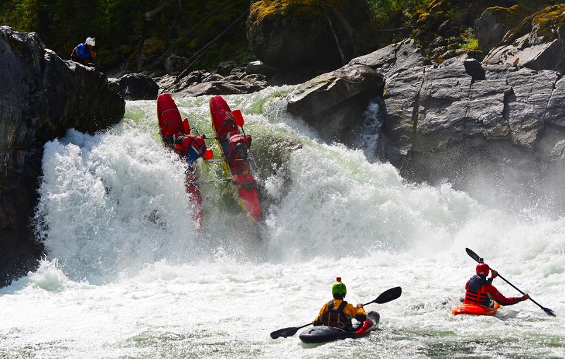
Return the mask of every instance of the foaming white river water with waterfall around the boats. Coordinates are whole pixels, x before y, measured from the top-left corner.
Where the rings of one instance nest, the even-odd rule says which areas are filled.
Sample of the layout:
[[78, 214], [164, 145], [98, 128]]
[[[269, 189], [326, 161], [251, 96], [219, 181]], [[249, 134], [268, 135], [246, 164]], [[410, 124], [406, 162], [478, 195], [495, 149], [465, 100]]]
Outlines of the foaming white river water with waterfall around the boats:
[[[254, 137], [259, 225], [232, 184], [209, 183], [196, 230], [183, 163], [157, 135], [155, 101], [127, 102], [109, 131], [47, 143], [35, 225], [48, 254], [0, 288], [0, 358], [565, 357], [565, 218], [547, 204], [481, 203], [448, 178], [408, 183], [371, 155], [375, 105], [354, 151], [286, 114], [289, 90], [225, 96]], [[211, 136], [208, 100], [177, 105]], [[218, 163], [198, 163], [198, 174], [223, 176]], [[453, 316], [475, 270], [465, 247], [557, 317], [531, 301], [496, 317]], [[336, 276], [352, 303], [396, 286], [403, 295], [367, 305], [381, 324], [363, 339], [270, 339], [311, 322]]]

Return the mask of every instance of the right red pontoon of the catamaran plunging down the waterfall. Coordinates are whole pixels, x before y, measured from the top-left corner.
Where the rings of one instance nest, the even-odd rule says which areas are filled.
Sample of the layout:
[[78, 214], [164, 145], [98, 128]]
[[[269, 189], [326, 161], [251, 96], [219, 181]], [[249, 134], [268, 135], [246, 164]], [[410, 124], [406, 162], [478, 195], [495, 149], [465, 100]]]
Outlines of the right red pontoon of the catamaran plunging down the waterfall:
[[[226, 160], [227, 152], [230, 148], [230, 141], [226, 135], [230, 132], [236, 132], [239, 134], [239, 126], [234, 119], [234, 114], [239, 116], [241, 112], [239, 112], [239, 110], [234, 110], [232, 112], [232, 110], [230, 110], [230, 106], [227, 105], [221, 96], [213, 96], [213, 98], [210, 98], [210, 117], [212, 119], [212, 127], [215, 131], [220, 153], [222, 153], [226, 173], [230, 173]], [[243, 118], [241, 117], [241, 119]], [[235, 175], [237, 178], [237, 182], [234, 184], [237, 188], [237, 192], [239, 192], [239, 204], [241, 204], [242, 208], [249, 213], [249, 216], [251, 216], [254, 221], [260, 222], [263, 219], [261, 214], [261, 203], [259, 202], [259, 193], [255, 177], [251, 174], [251, 167], [249, 167], [247, 160], [237, 157], [234, 162], [234, 166], [235, 170], [232, 172], [232, 175]]]

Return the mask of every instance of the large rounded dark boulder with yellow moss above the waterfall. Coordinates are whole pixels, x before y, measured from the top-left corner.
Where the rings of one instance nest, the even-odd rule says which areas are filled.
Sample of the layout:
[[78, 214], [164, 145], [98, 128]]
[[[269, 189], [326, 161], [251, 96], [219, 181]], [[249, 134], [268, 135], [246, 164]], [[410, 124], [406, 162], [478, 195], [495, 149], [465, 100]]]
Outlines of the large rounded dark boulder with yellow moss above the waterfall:
[[263, 0], [251, 6], [247, 40], [257, 59], [275, 71], [328, 71], [343, 66], [342, 53], [345, 61], [358, 55], [357, 34], [369, 23], [362, 0]]

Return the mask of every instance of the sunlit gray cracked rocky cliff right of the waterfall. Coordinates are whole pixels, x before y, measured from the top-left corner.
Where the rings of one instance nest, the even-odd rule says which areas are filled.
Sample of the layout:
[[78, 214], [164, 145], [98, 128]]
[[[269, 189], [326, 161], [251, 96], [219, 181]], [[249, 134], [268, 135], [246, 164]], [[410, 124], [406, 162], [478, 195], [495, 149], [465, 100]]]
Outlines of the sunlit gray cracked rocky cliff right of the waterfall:
[[[539, 205], [563, 208], [565, 200], [554, 196], [565, 189], [559, 180], [565, 170], [562, 13], [565, 5], [527, 16], [491, 43], [484, 61], [462, 52], [434, 64], [417, 42], [407, 39], [352, 59], [333, 73], [363, 65], [382, 76], [383, 95], [372, 95], [382, 122], [376, 156], [393, 163], [405, 178], [447, 179], [468, 191], [499, 182], [499, 192], [530, 192], [530, 200]], [[492, 22], [492, 12], [483, 16], [491, 18], [477, 21], [479, 33], [487, 33], [481, 24], [501, 28]], [[355, 146], [347, 129], [356, 117], [338, 109], [354, 102], [367, 106], [370, 96], [359, 103], [360, 95], [373, 90], [363, 81], [349, 81], [341, 90], [327, 82], [319, 76], [298, 86], [288, 110], [331, 134], [326, 139]], [[374, 77], [374, 88], [378, 83]], [[314, 97], [316, 112], [326, 114], [322, 120], [309, 110]]]

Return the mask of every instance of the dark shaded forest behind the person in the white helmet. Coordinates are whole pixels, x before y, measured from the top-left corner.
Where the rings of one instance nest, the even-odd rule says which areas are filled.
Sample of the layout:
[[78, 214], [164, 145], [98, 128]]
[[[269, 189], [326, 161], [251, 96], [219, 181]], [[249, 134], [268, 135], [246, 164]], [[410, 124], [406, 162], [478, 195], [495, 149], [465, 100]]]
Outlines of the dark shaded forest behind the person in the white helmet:
[[[167, 50], [191, 57], [247, 8], [247, 0], [1, 0], [0, 25], [20, 32], [35, 31], [64, 59], [69, 59], [72, 49], [86, 37], [95, 37], [96, 65], [105, 71], [146, 51], [144, 42], [151, 38], [164, 44], [160, 54], [149, 51], [155, 60]], [[246, 49], [245, 20], [219, 41], [227, 53], [220, 50], [210, 58], [215, 61], [213, 66], [218, 57], [237, 57]], [[124, 49], [131, 52], [124, 53]]]

